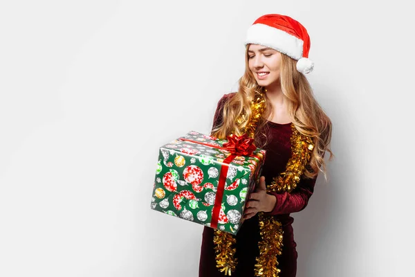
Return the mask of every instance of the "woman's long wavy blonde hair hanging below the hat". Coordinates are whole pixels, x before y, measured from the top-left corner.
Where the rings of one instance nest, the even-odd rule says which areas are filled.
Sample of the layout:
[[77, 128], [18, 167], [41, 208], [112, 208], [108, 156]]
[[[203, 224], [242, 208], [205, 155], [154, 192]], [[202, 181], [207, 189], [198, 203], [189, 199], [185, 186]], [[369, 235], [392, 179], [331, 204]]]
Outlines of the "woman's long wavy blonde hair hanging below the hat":
[[[239, 79], [239, 90], [223, 106], [223, 123], [212, 129], [212, 135], [220, 139], [225, 139], [232, 132], [237, 135], [243, 133], [243, 129], [249, 124], [251, 111], [251, 101], [262, 94], [266, 101], [266, 109], [255, 129], [255, 145], [264, 148], [267, 144], [266, 121], [272, 114], [272, 107], [266, 97], [265, 88], [257, 84], [254, 75], [248, 66], [248, 48], [246, 46], [246, 69]], [[282, 60], [280, 66], [280, 82], [284, 101], [288, 103], [288, 114], [291, 122], [301, 134], [310, 136], [313, 139], [313, 152], [311, 160], [304, 170], [304, 175], [308, 178], [316, 177], [321, 171], [326, 178], [326, 163], [324, 162], [325, 152], [330, 153], [329, 160], [333, 157], [331, 152], [331, 120], [324, 113], [322, 107], [317, 103], [313, 96], [313, 90], [306, 76], [297, 71], [297, 60], [281, 53]], [[264, 140], [265, 139], [265, 140]]]

